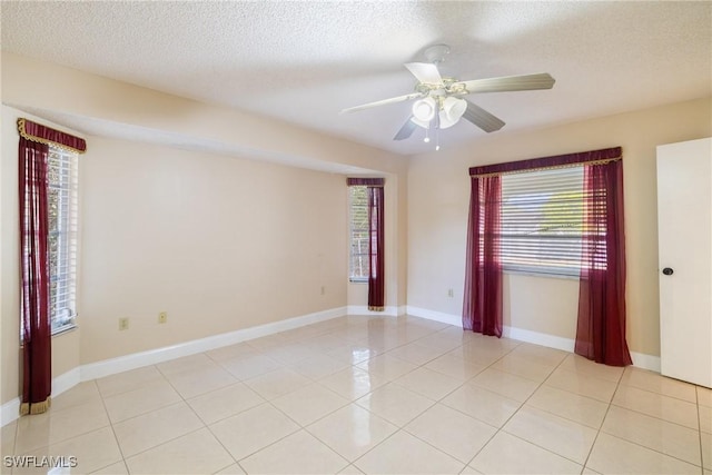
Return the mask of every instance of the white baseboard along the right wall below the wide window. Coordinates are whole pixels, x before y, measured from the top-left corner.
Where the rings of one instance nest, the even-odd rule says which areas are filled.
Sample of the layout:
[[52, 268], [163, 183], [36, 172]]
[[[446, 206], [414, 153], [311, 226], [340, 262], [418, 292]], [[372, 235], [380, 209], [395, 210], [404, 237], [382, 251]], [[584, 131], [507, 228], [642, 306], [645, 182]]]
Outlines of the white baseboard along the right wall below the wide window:
[[[414, 317], [427, 318], [427, 319], [441, 321], [444, 324], [454, 325], [461, 328], [463, 326], [462, 317], [457, 315], [444, 314], [442, 311], [412, 307], [409, 305], [408, 305], [408, 315], [413, 315]], [[505, 326], [502, 329], [502, 336], [506, 338], [516, 339], [517, 342], [532, 343], [534, 345], [541, 345], [550, 348], [562, 349], [568, 353], [573, 353], [574, 350], [573, 338], [564, 338], [555, 335], [532, 331], [524, 328]], [[660, 356], [631, 352], [631, 358], [633, 359], [633, 366], [637, 368], [649, 369], [651, 372], [660, 373]]]

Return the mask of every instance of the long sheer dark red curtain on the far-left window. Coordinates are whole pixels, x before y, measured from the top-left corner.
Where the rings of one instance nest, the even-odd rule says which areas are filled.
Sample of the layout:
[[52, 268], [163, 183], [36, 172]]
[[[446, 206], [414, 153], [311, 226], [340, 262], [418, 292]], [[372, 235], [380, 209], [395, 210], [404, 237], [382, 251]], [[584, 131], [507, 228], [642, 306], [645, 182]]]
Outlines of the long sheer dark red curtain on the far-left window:
[[49, 321], [48, 176], [49, 147], [20, 137], [20, 249], [22, 275], [21, 414], [49, 407], [51, 328]]

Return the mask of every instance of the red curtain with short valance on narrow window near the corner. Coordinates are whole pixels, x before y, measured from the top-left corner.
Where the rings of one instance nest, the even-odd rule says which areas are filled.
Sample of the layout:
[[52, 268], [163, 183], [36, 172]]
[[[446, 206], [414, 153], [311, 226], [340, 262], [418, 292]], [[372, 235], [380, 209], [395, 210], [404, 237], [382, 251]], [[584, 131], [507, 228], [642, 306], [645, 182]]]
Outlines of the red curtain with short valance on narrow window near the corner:
[[366, 186], [368, 190], [368, 309], [385, 310], [385, 232], [383, 178], [348, 178], [349, 186]]

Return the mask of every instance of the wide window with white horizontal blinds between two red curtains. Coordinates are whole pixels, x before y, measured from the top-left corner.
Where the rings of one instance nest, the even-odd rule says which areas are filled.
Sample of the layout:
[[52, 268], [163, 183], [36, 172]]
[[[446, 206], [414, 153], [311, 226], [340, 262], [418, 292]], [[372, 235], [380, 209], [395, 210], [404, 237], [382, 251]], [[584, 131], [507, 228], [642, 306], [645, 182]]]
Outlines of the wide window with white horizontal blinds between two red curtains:
[[505, 270], [578, 276], [582, 229], [582, 166], [502, 176]]

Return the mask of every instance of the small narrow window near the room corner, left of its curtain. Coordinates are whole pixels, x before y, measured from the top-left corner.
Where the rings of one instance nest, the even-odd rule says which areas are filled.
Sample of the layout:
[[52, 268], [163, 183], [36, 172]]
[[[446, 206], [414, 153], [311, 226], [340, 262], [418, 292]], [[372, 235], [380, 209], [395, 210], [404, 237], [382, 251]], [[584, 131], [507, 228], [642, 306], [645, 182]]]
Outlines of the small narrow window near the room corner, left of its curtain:
[[349, 194], [349, 280], [368, 281], [368, 192], [366, 186], [353, 185]]

